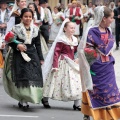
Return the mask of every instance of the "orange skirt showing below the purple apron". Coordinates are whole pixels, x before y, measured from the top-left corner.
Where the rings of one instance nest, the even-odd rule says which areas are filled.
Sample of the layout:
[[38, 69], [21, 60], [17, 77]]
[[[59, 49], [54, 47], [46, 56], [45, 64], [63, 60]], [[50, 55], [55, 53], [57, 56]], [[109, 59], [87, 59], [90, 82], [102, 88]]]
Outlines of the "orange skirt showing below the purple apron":
[[93, 117], [93, 120], [118, 120], [120, 118], [120, 103], [105, 108], [92, 109], [88, 92], [82, 93], [81, 111]]

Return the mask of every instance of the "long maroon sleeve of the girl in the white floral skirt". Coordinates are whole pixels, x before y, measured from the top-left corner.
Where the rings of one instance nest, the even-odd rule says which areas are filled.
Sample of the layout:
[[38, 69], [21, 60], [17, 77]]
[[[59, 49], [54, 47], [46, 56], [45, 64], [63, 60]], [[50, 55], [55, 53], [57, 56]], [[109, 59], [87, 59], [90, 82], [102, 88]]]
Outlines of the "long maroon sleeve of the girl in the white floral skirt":
[[54, 56], [53, 56], [53, 68], [58, 68], [58, 59], [60, 57], [62, 47], [63, 47], [62, 42], [58, 42], [56, 44], [55, 51], [54, 51]]

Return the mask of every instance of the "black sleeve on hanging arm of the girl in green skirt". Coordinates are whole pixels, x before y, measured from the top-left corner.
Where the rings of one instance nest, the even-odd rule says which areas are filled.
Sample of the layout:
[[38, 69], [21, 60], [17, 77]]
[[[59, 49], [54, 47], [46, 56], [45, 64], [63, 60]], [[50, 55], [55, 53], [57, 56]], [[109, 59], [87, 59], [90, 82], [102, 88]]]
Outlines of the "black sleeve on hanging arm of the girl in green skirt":
[[40, 60], [44, 60], [42, 50], [41, 50], [41, 42], [40, 42], [40, 32], [38, 32], [38, 36], [35, 38], [35, 47], [38, 53]]

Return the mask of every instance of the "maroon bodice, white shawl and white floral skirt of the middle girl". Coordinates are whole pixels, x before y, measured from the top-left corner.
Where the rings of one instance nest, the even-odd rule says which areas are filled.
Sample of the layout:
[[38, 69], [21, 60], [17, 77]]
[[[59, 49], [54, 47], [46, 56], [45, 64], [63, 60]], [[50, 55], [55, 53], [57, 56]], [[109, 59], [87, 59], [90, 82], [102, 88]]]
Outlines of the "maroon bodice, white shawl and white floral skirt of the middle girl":
[[43, 88], [43, 97], [61, 101], [81, 99], [81, 80], [79, 66], [74, 62], [77, 50], [77, 39], [73, 36], [70, 42], [66, 35], [58, 38], [53, 57], [53, 69], [49, 72]]

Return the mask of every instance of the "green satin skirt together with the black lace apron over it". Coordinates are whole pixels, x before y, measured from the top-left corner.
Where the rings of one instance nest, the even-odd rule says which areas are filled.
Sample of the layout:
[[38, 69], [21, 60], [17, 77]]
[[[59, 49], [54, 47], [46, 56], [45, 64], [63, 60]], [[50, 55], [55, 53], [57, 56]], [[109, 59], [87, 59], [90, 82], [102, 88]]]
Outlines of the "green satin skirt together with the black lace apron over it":
[[12, 49], [8, 52], [3, 72], [4, 89], [18, 101], [40, 103], [43, 88], [40, 60], [35, 48], [29, 49], [27, 54], [30, 62], [24, 61], [20, 52]]

